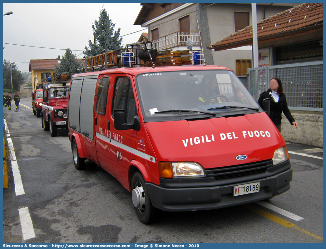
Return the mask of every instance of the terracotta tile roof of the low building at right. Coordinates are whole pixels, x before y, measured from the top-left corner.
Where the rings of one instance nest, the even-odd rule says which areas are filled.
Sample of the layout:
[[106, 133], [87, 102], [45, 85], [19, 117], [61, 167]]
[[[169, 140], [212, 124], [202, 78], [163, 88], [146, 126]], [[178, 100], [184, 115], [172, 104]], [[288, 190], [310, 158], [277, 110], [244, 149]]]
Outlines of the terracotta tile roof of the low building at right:
[[[283, 37], [286, 32], [300, 32], [323, 22], [323, 4], [305, 3], [285, 10], [257, 23], [258, 40], [268, 39], [269, 36]], [[208, 49], [223, 50], [252, 44], [252, 25], [231, 34], [212, 44]], [[222, 47], [223, 46], [223, 47]]]

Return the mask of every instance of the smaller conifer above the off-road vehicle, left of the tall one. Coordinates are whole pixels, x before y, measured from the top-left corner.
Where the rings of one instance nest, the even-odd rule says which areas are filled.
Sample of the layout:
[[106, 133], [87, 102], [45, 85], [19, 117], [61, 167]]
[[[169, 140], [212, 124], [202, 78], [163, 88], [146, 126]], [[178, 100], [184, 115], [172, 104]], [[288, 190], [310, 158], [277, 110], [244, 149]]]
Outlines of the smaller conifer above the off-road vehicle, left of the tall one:
[[73, 75], [76, 73], [77, 68], [82, 67], [82, 62], [78, 61], [76, 54], [67, 48], [65, 55], [63, 55], [60, 60], [60, 66], [55, 65], [55, 71], [57, 73], [69, 73], [70, 75]]

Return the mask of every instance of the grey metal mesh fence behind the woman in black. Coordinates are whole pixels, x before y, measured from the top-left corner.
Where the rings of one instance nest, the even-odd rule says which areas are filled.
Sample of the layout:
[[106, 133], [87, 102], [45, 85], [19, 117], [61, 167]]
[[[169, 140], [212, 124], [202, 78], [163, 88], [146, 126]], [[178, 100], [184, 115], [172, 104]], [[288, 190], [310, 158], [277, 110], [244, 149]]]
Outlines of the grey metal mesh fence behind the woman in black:
[[290, 110], [323, 110], [322, 61], [248, 68], [248, 89], [256, 100], [273, 77], [281, 79]]

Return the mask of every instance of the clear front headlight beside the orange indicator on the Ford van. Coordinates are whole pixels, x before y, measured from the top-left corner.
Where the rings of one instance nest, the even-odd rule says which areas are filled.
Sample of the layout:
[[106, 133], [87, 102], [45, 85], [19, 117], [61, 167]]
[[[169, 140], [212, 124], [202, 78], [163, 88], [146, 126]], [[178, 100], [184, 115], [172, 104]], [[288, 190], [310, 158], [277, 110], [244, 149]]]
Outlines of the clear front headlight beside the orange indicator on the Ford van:
[[172, 163], [173, 176], [204, 176], [203, 168], [194, 162], [175, 162]]

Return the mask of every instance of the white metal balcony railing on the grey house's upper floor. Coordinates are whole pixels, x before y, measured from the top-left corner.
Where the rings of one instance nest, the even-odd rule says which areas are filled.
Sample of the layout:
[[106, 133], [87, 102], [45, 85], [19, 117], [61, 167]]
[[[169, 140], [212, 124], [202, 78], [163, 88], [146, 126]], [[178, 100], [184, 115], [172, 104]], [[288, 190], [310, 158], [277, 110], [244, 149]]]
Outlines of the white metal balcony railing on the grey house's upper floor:
[[175, 47], [179, 48], [180, 46], [186, 46], [188, 38], [193, 41], [193, 46], [200, 46], [199, 32], [175, 32], [152, 40], [152, 48], [157, 50], [166, 50]]

